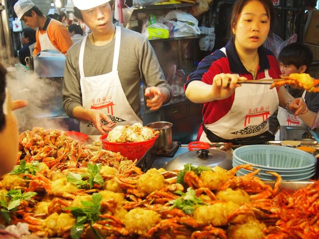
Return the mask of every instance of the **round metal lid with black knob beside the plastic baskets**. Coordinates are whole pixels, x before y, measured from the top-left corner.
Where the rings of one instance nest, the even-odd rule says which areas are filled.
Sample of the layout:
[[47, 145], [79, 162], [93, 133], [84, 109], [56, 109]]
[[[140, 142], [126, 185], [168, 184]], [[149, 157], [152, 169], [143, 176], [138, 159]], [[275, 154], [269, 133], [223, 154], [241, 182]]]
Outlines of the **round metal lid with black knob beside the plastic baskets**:
[[[206, 158], [206, 151], [208, 151]], [[233, 156], [225, 151], [217, 149], [189, 151], [172, 159], [165, 167], [166, 170], [183, 170], [186, 163], [191, 163], [194, 166], [220, 166], [224, 169], [233, 168]], [[201, 157], [201, 158], [199, 158]]]

